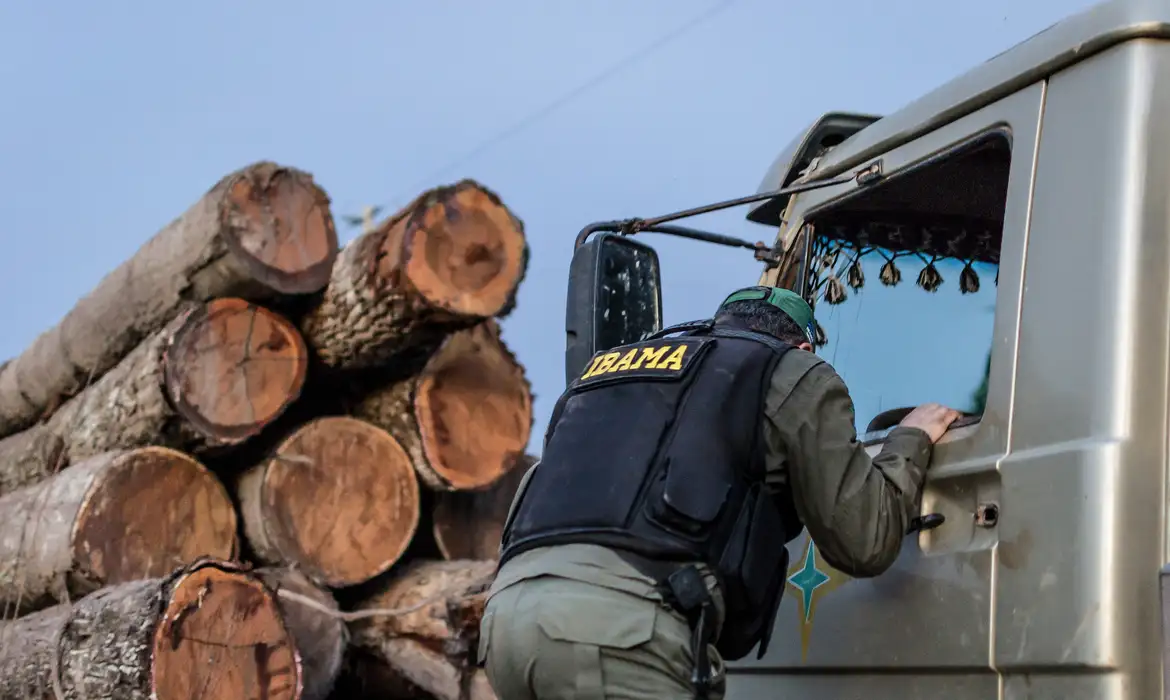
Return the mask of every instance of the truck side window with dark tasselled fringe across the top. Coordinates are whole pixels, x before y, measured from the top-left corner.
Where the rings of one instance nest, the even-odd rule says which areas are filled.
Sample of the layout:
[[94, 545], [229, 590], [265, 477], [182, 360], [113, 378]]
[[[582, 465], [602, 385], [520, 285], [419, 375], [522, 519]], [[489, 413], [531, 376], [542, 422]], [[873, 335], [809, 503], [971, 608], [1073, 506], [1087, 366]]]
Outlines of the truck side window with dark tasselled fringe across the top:
[[925, 402], [983, 413], [1010, 164], [997, 131], [807, 219], [818, 354], [859, 433]]

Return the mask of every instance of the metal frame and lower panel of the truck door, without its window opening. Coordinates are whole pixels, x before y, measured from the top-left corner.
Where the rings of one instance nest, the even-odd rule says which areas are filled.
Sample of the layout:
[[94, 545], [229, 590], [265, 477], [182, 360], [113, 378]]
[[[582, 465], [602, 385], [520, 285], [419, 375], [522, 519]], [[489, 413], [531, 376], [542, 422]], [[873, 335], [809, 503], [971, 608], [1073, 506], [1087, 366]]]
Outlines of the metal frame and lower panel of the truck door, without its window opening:
[[[908, 540], [892, 570], [872, 579], [851, 579], [808, 548], [807, 534], [790, 545], [793, 572], [812, 562], [828, 581], [810, 593], [815, 605], [810, 603], [807, 608], [805, 593], [790, 583], [768, 656], [759, 661], [734, 664], [732, 686], [738, 673], [749, 668], [752, 675], [769, 674], [779, 695], [794, 694], [798, 687], [824, 674], [826, 678], [814, 685], [832, 685], [835, 681], [827, 680], [830, 677], [841, 679], [842, 685], [828, 692], [830, 696], [837, 696], [853, 687], [852, 681], [845, 682], [846, 678], [863, 675], [867, 670], [921, 674], [917, 670], [935, 668], [943, 673], [955, 668], [983, 668], [993, 677], [989, 658], [993, 644], [996, 542], [993, 535], [975, 528], [970, 514], [979, 502], [999, 497], [997, 462], [1007, 452], [1012, 397], [1010, 368], [1014, 364], [1023, 284], [1020, 261], [1026, 245], [1042, 101], [1044, 85], [1038, 84], [881, 155], [885, 172], [893, 181], [972, 139], [996, 132], [1010, 133], [1012, 152], [991, 361], [992, 375], [1006, 376], [1009, 382], [990, 387], [980, 423], [948, 435], [936, 451], [923, 513], [942, 512], [948, 515], [948, 523], [922, 534], [921, 544]], [[801, 194], [790, 217], [798, 226], [853, 195], [856, 190], [848, 185]], [[1013, 266], [1006, 259], [1017, 263]], [[1009, 371], [1003, 372], [1003, 368]], [[878, 448], [880, 445], [873, 451]], [[940, 625], [940, 619], [947, 619], [947, 624]], [[940, 680], [929, 685], [957, 692], [966, 687], [965, 682], [951, 687]], [[897, 688], [899, 684], [889, 687]], [[984, 681], [975, 681], [970, 687], [986, 686]], [[875, 689], [870, 688], [867, 696], [886, 696], [873, 692]], [[888, 696], [902, 698], [904, 691], [892, 691]]]

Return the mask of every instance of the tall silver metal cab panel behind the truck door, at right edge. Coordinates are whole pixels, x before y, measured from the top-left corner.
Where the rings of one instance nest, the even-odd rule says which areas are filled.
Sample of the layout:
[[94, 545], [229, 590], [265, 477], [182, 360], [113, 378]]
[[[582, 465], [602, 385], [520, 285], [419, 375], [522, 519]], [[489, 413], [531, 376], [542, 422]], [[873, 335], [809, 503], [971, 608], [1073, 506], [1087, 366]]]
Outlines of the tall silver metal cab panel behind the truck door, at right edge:
[[[994, 663], [1120, 673], [1159, 696], [1170, 42], [1053, 76], [1037, 163]], [[1002, 558], [1005, 558], [1002, 556]], [[1042, 631], [1041, 634], [1037, 634]], [[1075, 687], [1071, 685], [1069, 687]]]

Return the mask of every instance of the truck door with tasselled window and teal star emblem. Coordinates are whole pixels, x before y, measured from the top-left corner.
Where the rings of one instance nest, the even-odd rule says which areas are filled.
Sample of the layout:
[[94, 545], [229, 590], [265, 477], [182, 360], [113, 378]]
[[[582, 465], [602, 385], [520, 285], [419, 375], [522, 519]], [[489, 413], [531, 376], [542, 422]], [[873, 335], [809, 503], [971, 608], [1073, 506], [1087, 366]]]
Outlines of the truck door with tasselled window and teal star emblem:
[[806, 534], [790, 543], [769, 653], [731, 665], [728, 698], [998, 695], [997, 464], [1011, 442], [1044, 96], [1033, 84], [868, 159], [887, 174], [876, 186], [793, 204], [806, 243], [797, 286], [814, 303], [818, 354], [849, 386], [870, 454], [897, 409], [940, 402], [969, 416], [936, 447], [923, 495], [922, 513], [945, 523], [908, 537], [888, 572], [851, 579]]

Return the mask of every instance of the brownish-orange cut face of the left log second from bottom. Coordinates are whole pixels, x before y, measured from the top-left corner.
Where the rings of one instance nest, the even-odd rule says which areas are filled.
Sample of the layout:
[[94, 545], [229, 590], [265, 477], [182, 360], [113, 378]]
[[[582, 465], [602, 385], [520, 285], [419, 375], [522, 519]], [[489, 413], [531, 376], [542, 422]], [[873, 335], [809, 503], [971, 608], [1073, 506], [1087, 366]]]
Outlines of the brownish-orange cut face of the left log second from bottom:
[[152, 578], [200, 557], [236, 551], [235, 508], [194, 459], [164, 447], [119, 455], [85, 495], [74, 529], [83, 579], [117, 584]]

